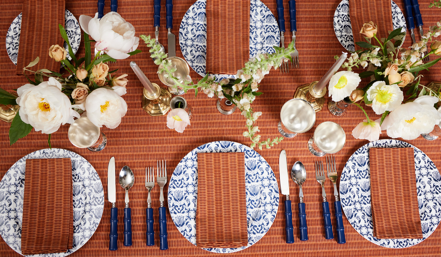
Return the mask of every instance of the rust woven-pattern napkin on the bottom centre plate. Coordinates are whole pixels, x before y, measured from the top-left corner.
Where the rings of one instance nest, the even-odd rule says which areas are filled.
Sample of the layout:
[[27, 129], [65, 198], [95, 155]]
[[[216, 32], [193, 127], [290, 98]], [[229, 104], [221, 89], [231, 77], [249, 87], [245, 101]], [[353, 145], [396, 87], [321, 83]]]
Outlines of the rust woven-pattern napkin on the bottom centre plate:
[[198, 153], [196, 245], [248, 244], [244, 153]]

